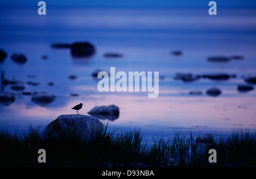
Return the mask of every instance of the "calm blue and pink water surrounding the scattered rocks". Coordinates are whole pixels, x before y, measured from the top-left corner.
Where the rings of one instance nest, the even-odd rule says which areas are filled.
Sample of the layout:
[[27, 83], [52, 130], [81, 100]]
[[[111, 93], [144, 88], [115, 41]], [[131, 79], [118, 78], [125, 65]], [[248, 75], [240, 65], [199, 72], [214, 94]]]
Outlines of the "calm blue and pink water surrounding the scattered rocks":
[[[16, 99], [8, 106], [0, 105], [3, 128], [13, 131], [26, 130], [28, 124], [46, 126], [61, 114], [76, 114], [71, 107], [82, 102], [86, 106], [79, 113], [84, 115], [94, 106], [118, 106], [119, 118], [110, 127], [141, 128], [147, 140], [151, 136], [168, 138], [177, 131], [216, 136], [229, 135], [233, 128], [256, 132], [256, 91], [237, 91], [244, 77], [256, 75], [256, 10], [220, 9], [217, 16], [210, 16], [208, 9], [47, 9], [46, 16], [39, 16], [37, 9], [1, 9], [0, 21], [0, 48], [8, 53], [0, 64], [5, 78], [24, 82], [24, 91], [56, 96], [42, 107], [31, 101], [31, 95], [5, 86], [5, 92], [14, 93]], [[96, 54], [77, 60], [69, 49], [51, 48], [52, 43], [75, 41], [89, 41]], [[183, 55], [171, 55], [175, 50]], [[106, 59], [106, 52], [123, 57]], [[16, 64], [10, 59], [13, 53], [24, 53], [27, 63]], [[43, 55], [48, 59], [42, 59]], [[207, 61], [209, 56], [233, 55], [244, 59]], [[116, 72], [159, 72], [164, 78], [159, 81], [158, 98], [148, 98], [148, 92], [98, 92], [98, 80], [91, 74], [97, 68], [109, 72], [111, 66]], [[216, 72], [237, 77], [174, 80], [176, 73]], [[77, 79], [71, 80], [69, 75]], [[40, 84], [27, 85], [27, 81]], [[222, 94], [205, 94], [211, 87], [221, 89]], [[203, 94], [190, 95], [191, 90]]]

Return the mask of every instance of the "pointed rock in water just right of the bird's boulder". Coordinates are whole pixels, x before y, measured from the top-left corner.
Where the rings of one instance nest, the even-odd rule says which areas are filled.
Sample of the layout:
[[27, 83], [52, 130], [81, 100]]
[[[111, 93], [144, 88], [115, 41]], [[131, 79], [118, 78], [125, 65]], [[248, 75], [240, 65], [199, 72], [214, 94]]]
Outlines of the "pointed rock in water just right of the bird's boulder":
[[115, 105], [95, 106], [88, 114], [100, 119], [115, 120], [119, 117], [119, 108]]

